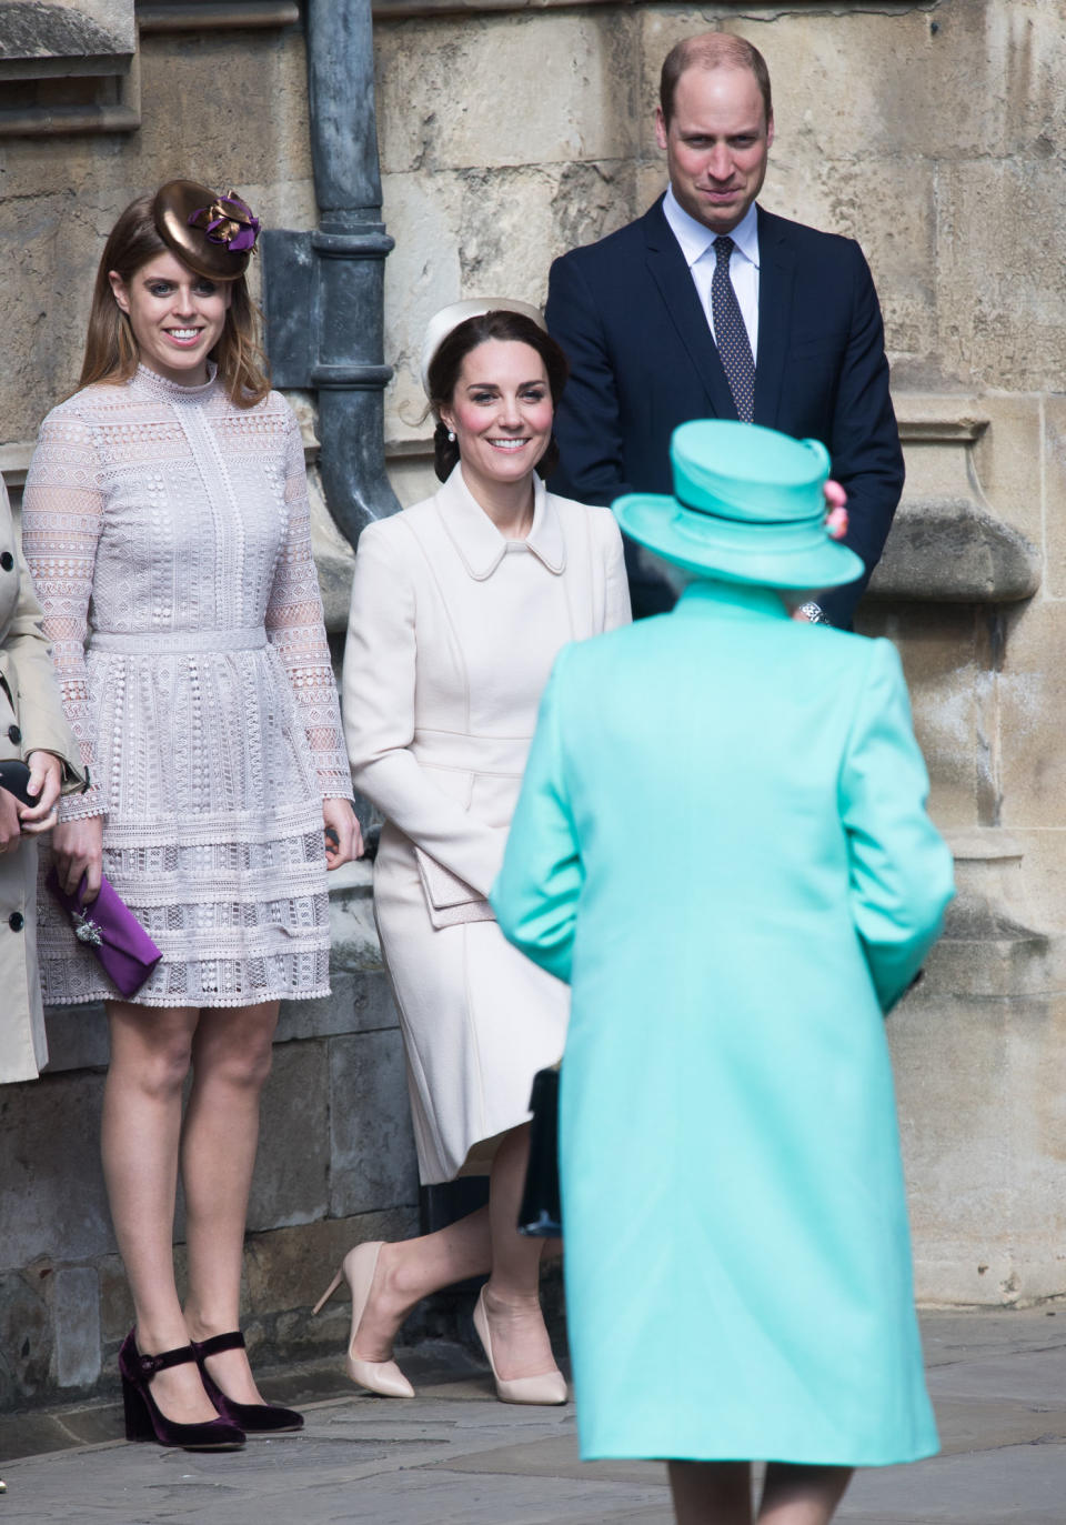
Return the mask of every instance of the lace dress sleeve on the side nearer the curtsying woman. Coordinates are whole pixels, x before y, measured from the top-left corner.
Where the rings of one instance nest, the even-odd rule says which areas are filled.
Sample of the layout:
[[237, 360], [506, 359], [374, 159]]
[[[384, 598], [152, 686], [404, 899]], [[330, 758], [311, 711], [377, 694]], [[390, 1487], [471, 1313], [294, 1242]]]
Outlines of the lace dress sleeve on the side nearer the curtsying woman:
[[311, 512], [303, 470], [303, 442], [290, 412], [285, 439], [288, 531], [267, 604], [267, 637], [278, 650], [296, 695], [296, 708], [319, 770], [322, 798], [351, 799], [352, 781], [342, 744], [337, 685], [322, 621], [322, 595], [311, 552]]

